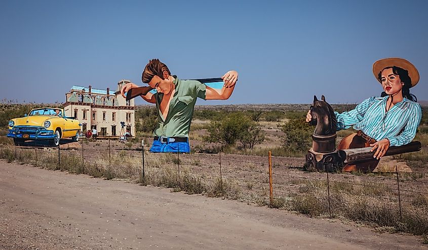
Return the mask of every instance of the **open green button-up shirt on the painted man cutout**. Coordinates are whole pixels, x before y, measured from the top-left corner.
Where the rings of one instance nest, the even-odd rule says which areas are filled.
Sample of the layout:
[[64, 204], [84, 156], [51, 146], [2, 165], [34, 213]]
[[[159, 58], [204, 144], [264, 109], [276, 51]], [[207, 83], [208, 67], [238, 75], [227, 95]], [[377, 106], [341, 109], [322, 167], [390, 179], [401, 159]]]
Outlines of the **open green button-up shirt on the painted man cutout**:
[[154, 136], [188, 137], [190, 122], [193, 117], [196, 98], [205, 100], [205, 84], [193, 80], [179, 80], [175, 78], [175, 93], [171, 99], [166, 119], [161, 113], [163, 93], [156, 93], [156, 108], [158, 109], [158, 127], [154, 130]]

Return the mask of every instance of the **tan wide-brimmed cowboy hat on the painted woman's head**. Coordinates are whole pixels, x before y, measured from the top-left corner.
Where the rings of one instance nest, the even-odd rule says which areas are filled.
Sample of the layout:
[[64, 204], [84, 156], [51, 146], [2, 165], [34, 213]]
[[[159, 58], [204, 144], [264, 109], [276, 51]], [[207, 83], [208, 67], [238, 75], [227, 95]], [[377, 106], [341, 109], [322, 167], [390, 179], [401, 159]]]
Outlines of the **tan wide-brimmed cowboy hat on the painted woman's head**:
[[373, 63], [373, 75], [380, 84], [382, 83], [377, 78], [378, 74], [385, 67], [391, 67], [391, 66], [397, 66], [397, 67], [406, 69], [409, 72], [410, 79], [412, 80], [412, 87], [414, 87], [419, 82], [419, 72], [417, 71], [416, 67], [412, 63], [410, 63], [408, 60], [403, 58], [391, 57], [391, 58], [380, 59], [380, 60], [377, 60], [375, 63]]

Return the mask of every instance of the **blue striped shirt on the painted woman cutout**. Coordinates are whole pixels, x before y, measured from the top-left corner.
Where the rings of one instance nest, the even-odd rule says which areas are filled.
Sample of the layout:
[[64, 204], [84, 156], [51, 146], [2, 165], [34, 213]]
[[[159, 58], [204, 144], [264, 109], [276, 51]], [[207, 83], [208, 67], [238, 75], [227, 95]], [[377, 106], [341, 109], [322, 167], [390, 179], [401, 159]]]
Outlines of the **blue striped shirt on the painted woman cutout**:
[[337, 118], [337, 130], [362, 130], [368, 136], [381, 140], [387, 138], [391, 146], [408, 144], [416, 135], [416, 129], [422, 118], [420, 105], [407, 98], [393, 105], [385, 113], [385, 97], [370, 97], [358, 104], [354, 110], [341, 114], [334, 112]]

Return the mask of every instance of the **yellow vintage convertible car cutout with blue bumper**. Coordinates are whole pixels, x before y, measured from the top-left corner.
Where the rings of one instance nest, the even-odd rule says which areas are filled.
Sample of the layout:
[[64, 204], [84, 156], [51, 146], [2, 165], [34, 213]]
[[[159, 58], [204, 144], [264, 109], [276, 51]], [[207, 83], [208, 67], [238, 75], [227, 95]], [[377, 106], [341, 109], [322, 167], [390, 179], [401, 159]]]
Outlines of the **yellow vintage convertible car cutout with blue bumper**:
[[8, 137], [13, 138], [15, 145], [23, 145], [27, 140], [44, 140], [58, 146], [63, 138], [79, 140], [80, 126], [79, 120], [65, 117], [63, 109], [40, 108], [10, 120]]

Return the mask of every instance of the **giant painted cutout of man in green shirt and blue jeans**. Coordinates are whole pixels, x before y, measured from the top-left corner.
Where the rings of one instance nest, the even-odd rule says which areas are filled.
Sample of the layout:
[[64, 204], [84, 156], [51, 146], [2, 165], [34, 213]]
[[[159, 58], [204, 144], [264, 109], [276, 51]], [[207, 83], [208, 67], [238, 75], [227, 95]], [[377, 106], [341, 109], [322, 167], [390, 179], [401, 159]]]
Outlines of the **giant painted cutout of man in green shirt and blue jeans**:
[[[204, 100], [226, 100], [234, 91], [238, 72], [224, 74], [221, 89], [214, 89], [196, 80], [180, 80], [171, 76], [167, 65], [159, 59], [150, 60], [144, 68], [141, 80], [157, 92], [148, 92], [141, 97], [156, 103], [158, 125], [153, 131], [150, 152], [190, 152], [189, 129], [197, 97]], [[121, 93], [138, 88], [134, 83], [125, 84]]]

